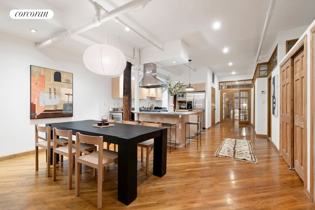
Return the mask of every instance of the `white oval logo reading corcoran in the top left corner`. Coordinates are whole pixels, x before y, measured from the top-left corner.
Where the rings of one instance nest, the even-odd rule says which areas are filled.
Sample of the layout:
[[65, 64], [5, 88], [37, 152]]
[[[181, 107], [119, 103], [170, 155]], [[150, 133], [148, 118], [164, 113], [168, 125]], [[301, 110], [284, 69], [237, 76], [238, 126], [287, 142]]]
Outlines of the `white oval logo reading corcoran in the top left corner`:
[[54, 12], [50, 9], [12, 9], [12, 19], [51, 19]]

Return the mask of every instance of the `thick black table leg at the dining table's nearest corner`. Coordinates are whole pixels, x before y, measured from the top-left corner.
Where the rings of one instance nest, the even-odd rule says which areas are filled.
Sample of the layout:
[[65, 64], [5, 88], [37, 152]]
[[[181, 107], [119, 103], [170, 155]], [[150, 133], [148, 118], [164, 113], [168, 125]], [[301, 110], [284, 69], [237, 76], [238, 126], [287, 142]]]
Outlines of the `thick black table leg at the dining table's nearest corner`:
[[137, 197], [137, 144], [118, 142], [118, 200], [129, 205]]

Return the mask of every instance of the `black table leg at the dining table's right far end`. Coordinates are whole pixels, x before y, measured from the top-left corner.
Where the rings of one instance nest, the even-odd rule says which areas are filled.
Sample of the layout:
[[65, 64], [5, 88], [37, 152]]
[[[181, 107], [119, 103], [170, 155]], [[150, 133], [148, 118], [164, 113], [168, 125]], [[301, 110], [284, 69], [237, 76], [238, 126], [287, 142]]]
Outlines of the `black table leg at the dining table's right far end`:
[[167, 128], [161, 130], [162, 135], [154, 138], [153, 175], [163, 177], [166, 174]]

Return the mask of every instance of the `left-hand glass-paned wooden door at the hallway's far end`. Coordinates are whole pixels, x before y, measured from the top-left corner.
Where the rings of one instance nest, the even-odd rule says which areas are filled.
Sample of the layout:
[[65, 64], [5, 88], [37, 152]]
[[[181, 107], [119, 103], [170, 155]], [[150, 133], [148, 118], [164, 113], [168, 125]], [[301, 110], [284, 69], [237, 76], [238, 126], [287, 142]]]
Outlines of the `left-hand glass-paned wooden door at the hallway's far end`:
[[221, 90], [221, 122], [234, 123], [234, 91]]

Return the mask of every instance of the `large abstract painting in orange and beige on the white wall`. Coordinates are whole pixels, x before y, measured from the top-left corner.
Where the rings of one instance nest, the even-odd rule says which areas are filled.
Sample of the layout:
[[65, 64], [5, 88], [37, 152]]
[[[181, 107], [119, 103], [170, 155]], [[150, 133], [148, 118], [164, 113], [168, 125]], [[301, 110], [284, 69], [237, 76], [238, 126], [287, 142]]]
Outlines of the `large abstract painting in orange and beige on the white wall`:
[[31, 119], [73, 116], [73, 74], [31, 65]]

